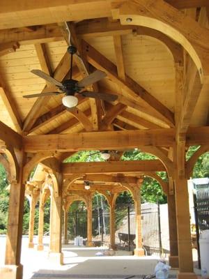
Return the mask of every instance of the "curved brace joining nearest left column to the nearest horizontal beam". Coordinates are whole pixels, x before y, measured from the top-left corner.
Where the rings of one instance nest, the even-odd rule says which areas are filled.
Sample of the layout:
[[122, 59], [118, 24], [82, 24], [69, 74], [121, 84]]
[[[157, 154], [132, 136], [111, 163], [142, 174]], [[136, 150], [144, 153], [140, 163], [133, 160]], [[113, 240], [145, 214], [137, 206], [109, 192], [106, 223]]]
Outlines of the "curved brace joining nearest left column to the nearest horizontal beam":
[[26, 183], [26, 181], [29, 178], [29, 174], [31, 173], [31, 170], [33, 169], [33, 167], [38, 165], [38, 163], [40, 163], [42, 160], [45, 160], [45, 159], [50, 158], [50, 157], [54, 157], [54, 152], [45, 151], [45, 152], [36, 153], [36, 155], [34, 155], [33, 158], [31, 158], [31, 160], [29, 160], [29, 162], [27, 162], [26, 165], [24, 165], [24, 168], [23, 168], [23, 182]]

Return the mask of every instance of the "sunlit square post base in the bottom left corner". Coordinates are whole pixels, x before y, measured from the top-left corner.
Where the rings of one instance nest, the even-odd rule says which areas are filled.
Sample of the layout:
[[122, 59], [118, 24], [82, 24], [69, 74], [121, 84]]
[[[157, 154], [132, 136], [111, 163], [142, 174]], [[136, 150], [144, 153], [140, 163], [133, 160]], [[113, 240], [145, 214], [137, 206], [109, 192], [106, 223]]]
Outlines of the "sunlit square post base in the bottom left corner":
[[0, 267], [1, 279], [22, 279], [22, 264], [6, 264]]

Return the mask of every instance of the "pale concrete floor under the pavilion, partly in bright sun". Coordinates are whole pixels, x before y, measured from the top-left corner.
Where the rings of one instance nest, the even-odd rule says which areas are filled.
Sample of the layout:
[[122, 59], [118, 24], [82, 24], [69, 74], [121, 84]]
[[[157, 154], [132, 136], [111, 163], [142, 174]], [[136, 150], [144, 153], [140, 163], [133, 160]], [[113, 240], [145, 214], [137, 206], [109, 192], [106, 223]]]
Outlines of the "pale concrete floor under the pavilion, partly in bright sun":
[[[0, 237], [0, 265], [3, 264], [5, 238]], [[27, 248], [28, 239], [22, 240], [22, 259], [24, 279], [82, 279], [82, 278], [142, 278], [153, 273], [157, 257], [134, 257], [126, 251], [117, 251], [116, 255], [98, 257], [95, 253], [102, 248], [82, 248], [63, 246], [64, 265], [54, 265], [48, 260], [48, 242], [45, 238], [45, 250]], [[36, 239], [34, 241], [36, 243]], [[176, 278], [176, 270], [171, 270], [169, 278]]]

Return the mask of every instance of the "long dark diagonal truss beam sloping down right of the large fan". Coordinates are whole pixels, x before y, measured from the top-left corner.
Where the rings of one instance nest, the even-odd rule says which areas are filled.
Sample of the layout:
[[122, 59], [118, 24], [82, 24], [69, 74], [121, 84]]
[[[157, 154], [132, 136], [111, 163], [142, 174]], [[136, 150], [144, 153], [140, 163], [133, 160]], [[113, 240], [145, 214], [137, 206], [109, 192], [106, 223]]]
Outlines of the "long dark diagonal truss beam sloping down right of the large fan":
[[91, 45], [86, 43], [84, 40], [82, 40], [83, 50], [84, 53], [86, 53], [87, 60], [89, 63], [91, 63], [95, 68], [98, 68], [100, 70], [104, 70], [107, 73], [107, 76], [111, 78], [113, 82], [118, 84], [118, 86], [121, 87], [121, 89], [124, 89], [127, 91], [127, 93], [134, 98], [135, 100], [138, 100], [139, 103], [146, 103], [149, 105], [155, 112], [159, 113], [164, 121], [169, 121], [169, 124], [173, 126], [174, 124], [174, 116], [173, 113], [160, 101], [155, 99], [155, 97], [151, 96], [148, 91], [146, 91], [143, 87], [141, 87], [137, 82], [134, 82], [130, 77], [125, 75], [125, 81], [118, 78], [117, 74], [117, 68], [107, 59], [105, 56], [100, 54], [95, 48], [93, 48]]

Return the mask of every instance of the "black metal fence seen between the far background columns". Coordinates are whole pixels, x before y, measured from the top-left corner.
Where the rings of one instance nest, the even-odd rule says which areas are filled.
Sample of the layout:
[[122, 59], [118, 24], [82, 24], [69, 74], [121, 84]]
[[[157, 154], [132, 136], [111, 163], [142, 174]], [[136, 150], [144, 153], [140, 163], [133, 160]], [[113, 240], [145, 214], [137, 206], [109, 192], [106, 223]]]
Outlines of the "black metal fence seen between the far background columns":
[[[133, 204], [116, 206], [116, 247], [118, 250], [134, 250], [136, 218]], [[68, 232], [70, 241], [75, 236], [87, 237], [87, 211], [69, 213]], [[141, 230], [143, 246], [147, 255], [161, 254], [160, 208], [158, 204], [141, 204]], [[92, 234], [95, 246], [110, 243], [109, 210], [95, 209], [92, 218]], [[84, 241], [85, 243], [85, 241]]]

